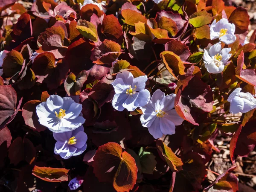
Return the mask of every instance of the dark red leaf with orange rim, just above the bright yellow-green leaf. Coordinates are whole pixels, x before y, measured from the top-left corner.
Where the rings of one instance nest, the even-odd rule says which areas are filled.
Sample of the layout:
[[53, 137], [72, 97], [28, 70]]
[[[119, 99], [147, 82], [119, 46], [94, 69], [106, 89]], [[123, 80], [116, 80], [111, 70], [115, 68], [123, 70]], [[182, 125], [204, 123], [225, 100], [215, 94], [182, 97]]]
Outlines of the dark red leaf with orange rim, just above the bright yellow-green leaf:
[[90, 17], [94, 14], [98, 15], [98, 17], [101, 17], [103, 15], [103, 12], [99, 9], [97, 5], [94, 4], [87, 4], [82, 7], [80, 10], [80, 17], [81, 19], [85, 19], [90, 21]]

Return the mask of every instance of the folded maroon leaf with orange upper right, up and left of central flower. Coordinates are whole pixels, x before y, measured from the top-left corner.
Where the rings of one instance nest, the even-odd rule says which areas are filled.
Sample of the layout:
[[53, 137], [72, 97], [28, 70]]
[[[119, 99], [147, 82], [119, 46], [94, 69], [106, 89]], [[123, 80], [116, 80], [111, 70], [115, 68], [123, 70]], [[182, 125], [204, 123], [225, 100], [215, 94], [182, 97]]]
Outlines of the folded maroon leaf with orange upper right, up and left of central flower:
[[116, 58], [121, 53], [121, 46], [119, 44], [105, 39], [93, 49], [90, 59], [95, 64], [108, 64], [116, 61]]

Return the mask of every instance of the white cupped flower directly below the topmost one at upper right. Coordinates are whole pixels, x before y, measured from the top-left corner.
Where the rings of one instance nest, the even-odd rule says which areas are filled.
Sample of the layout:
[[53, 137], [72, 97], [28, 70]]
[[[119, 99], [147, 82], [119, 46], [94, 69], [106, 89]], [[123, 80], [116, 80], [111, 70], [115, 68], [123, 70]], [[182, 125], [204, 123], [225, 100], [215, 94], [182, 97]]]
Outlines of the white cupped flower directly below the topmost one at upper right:
[[231, 48], [221, 49], [221, 44], [217, 43], [210, 47], [209, 52], [204, 49], [204, 66], [209, 73], [221, 73], [224, 70], [224, 64], [230, 59], [229, 52]]

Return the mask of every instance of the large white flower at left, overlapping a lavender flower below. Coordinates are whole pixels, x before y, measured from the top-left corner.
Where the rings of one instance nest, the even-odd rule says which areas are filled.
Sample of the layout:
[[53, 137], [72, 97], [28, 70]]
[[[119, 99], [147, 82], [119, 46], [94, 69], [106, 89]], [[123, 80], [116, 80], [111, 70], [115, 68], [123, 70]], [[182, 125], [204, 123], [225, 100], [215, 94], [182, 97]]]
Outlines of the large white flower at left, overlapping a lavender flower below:
[[36, 107], [40, 124], [55, 133], [73, 131], [80, 127], [85, 121], [81, 110], [82, 105], [72, 98], [61, 98], [58, 95], [49, 96], [46, 102]]

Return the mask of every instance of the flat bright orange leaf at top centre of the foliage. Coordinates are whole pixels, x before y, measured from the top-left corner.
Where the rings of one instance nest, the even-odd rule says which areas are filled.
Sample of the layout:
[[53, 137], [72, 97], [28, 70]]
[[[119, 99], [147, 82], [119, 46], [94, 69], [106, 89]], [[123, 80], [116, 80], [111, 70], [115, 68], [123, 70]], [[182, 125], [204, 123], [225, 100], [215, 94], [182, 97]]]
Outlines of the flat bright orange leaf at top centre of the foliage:
[[145, 16], [130, 9], [122, 10], [122, 16], [125, 19], [125, 23], [131, 26], [135, 26], [135, 23], [138, 23], [139, 21], [143, 23], [147, 22], [147, 19], [145, 18]]

